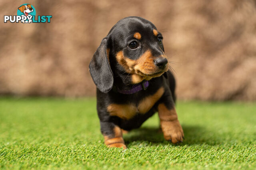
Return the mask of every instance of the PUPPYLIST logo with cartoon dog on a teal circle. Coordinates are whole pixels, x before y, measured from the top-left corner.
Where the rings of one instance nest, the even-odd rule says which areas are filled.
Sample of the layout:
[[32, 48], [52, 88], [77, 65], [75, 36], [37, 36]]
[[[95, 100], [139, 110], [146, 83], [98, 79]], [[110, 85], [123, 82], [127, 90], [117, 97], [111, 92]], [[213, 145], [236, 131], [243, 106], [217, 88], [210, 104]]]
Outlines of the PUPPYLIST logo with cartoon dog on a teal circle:
[[4, 23], [10, 21], [11, 23], [50, 23], [52, 16], [37, 16], [36, 9], [31, 4], [22, 4], [18, 7], [17, 16], [4, 16]]

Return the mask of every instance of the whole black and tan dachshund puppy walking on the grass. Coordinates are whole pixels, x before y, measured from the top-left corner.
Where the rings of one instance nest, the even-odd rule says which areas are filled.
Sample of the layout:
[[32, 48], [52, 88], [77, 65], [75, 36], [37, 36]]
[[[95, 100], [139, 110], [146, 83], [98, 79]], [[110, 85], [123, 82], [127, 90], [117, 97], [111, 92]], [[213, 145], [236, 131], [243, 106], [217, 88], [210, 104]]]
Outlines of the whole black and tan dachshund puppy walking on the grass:
[[174, 107], [175, 80], [162, 39], [150, 21], [127, 17], [112, 27], [94, 53], [89, 68], [108, 147], [126, 149], [121, 129], [140, 127], [156, 111], [164, 138], [182, 142], [184, 134]]

